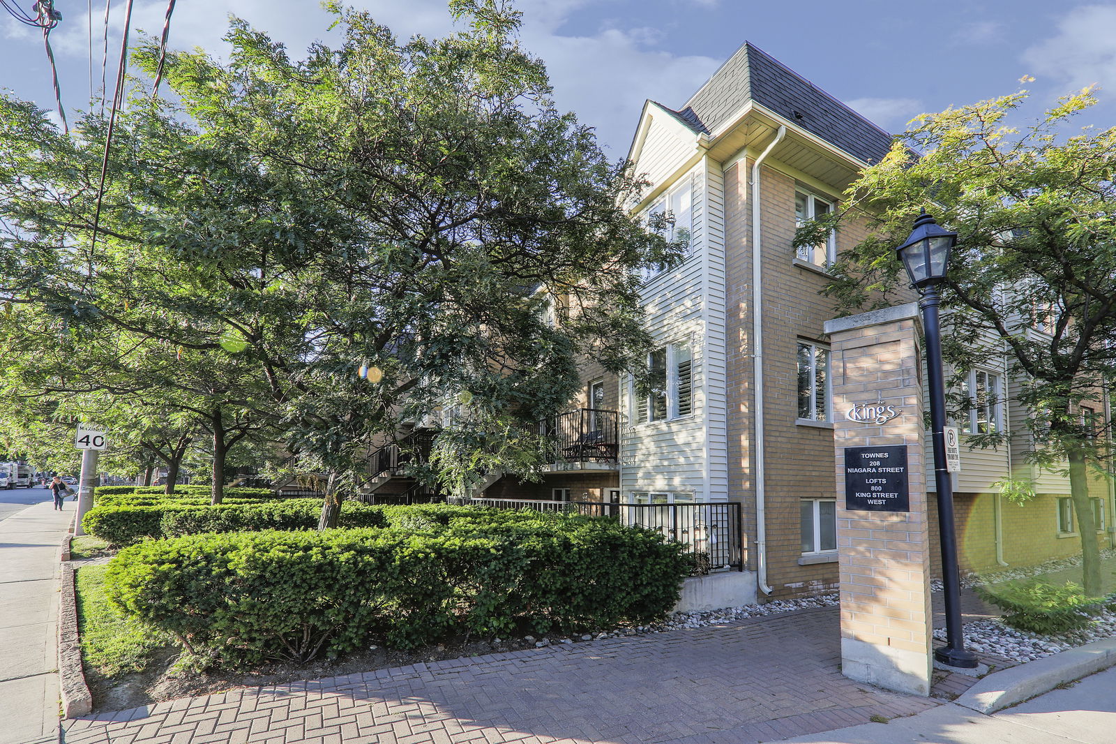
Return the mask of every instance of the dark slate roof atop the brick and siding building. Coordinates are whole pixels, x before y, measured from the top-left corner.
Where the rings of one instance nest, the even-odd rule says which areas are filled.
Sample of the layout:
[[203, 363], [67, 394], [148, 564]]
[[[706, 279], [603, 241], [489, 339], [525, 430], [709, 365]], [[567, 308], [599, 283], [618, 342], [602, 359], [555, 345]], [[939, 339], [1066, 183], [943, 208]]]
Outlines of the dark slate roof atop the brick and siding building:
[[687, 125], [695, 132], [711, 132], [749, 99], [863, 161], [891, 150], [887, 132], [748, 41], [676, 115], [693, 118]]

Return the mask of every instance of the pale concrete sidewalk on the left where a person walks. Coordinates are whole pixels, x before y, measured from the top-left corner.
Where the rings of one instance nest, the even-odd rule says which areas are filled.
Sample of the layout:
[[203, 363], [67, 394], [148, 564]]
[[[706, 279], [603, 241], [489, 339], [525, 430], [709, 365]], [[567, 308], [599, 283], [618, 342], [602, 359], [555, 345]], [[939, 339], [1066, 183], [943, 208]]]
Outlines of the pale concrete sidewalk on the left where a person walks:
[[75, 506], [0, 522], [0, 744], [58, 741], [58, 546]]

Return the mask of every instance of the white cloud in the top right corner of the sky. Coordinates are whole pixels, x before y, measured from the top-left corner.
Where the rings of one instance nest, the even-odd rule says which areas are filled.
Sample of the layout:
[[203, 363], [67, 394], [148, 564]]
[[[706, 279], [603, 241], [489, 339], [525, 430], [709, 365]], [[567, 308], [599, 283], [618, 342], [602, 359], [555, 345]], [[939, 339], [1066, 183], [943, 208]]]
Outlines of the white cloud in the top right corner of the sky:
[[1116, 87], [1116, 6], [1075, 8], [1058, 22], [1058, 34], [1023, 51], [1032, 74], [1084, 87]]

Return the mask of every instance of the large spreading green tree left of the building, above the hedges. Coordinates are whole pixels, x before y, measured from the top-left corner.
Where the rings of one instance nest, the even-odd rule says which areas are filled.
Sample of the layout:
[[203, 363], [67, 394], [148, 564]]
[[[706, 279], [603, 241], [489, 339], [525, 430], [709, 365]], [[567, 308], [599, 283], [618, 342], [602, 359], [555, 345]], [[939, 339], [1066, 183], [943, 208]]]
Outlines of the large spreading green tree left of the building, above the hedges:
[[304, 60], [241, 21], [227, 63], [172, 55], [175, 103], [118, 120], [96, 245], [104, 122], [65, 137], [6, 99], [0, 295], [212, 365], [214, 398], [329, 475], [323, 526], [377, 439], [462, 391], [487, 466], [529, 461], [498, 435], [564, 406], [578, 355], [638, 366], [636, 270], [680, 246], [626, 214], [642, 184], [554, 107], [518, 13], [451, 9], [443, 39], [335, 9], [341, 47]]

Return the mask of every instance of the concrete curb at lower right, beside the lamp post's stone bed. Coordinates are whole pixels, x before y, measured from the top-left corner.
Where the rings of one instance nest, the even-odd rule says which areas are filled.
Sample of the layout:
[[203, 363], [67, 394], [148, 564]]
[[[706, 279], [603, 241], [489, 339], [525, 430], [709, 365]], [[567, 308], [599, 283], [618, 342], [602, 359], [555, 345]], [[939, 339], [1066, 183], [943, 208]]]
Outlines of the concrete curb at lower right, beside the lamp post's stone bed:
[[1114, 665], [1116, 638], [1094, 641], [991, 674], [954, 703], [978, 713], [992, 714]]

